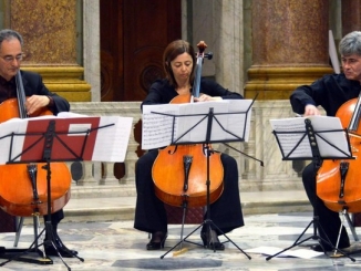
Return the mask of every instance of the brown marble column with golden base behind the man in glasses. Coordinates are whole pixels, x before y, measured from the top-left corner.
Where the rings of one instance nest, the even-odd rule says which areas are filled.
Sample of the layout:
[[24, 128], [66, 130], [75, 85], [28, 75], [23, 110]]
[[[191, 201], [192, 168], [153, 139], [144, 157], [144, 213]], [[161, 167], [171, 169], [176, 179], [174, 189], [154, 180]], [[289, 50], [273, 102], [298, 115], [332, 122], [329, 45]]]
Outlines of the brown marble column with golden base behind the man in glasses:
[[[24, 39], [23, 70], [43, 76], [48, 88], [70, 102], [91, 101], [91, 86], [76, 62], [76, 0], [12, 0], [8, 28]], [[79, 9], [79, 8], [78, 8]]]

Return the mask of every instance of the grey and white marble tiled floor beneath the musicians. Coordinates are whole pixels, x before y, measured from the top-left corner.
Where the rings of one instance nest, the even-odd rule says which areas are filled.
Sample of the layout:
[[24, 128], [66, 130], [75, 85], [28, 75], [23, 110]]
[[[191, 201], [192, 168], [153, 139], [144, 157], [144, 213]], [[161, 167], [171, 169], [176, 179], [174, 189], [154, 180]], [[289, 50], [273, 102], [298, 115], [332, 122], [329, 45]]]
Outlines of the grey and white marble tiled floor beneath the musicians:
[[[147, 234], [133, 229], [133, 221], [112, 222], [62, 222], [60, 236], [71, 249], [79, 251], [84, 262], [76, 258], [65, 258], [63, 263], [52, 257], [53, 264], [38, 264], [11, 261], [1, 267], [1, 270], [282, 270], [282, 271], [312, 271], [312, 270], [360, 270], [361, 253], [352, 254], [353, 259], [320, 254], [311, 259], [302, 258], [272, 258], [247, 252], [249, 249], [267, 247], [279, 248], [276, 251], [291, 246], [311, 221], [310, 212], [246, 215], [246, 226], [227, 237], [236, 243], [226, 243], [225, 251], [212, 251], [193, 243], [184, 242], [182, 253], [179, 249], [171, 251], [161, 259], [179, 240], [179, 226], [169, 226], [166, 247], [162, 251], [146, 251]], [[186, 226], [186, 233], [196, 229], [196, 225]], [[357, 232], [361, 231], [357, 228]], [[20, 239], [19, 248], [28, 248], [33, 239], [33, 229], [25, 226]], [[301, 240], [313, 233], [312, 226], [301, 237]], [[361, 233], [361, 232], [360, 232]], [[13, 244], [14, 233], [1, 233], [0, 243], [7, 248]], [[352, 236], [351, 236], [352, 239]], [[199, 231], [188, 240], [199, 242]], [[221, 240], [227, 240], [221, 237]], [[310, 240], [289, 250], [303, 250], [314, 241]], [[359, 248], [359, 242], [353, 242]], [[245, 254], [246, 253], [246, 254]], [[250, 257], [251, 259], [247, 258]], [[354, 261], [353, 261], [354, 260]], [[4, 259], [0, 259], [3, 262]], [[69, 265], [69, 269], [66, 265]]]

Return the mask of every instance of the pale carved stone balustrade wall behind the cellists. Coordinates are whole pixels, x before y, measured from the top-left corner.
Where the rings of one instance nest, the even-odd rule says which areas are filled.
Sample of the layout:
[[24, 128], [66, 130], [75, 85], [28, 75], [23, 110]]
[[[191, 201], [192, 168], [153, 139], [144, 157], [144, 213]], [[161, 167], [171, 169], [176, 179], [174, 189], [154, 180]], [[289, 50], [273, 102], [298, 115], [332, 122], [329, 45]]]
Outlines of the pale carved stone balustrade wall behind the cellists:
[[[141, 119], [140, 103], [71, 103], [71, 111], [84, 115], [118, 115], [133, 117], [135, 125]], [[292, 161], [282, 160], [276, 138], [272, 134], [269, 119], [295, 116], [288, 101], [255, 102], [251, 110], [251, 128], [248, 143], [229, 144], [237, 150], [223, 144], [214, 147], [233, 155], [239, 166], [239, 185], [243, 191], [265, 190], [297, 190], [302, 189], [298, 175], [302, 167]], [[105, 173], [102, 174], [99, 163], [83, 163], [84, 176], [81, 181], [74, 181], [72, 197], [104, 196], [134, 196], [134, 165], [136, 163], [137, 143], [132, 132], [127, 155], [125, 159], [126, 174], [122, 179], [116, 179], [112, 173], [113, 164], [104, 163]], [[244, 154], [241, 154], [241, 153]], [[254, 158], [264, 163], [264, 166]], [[301, 163], [302, 164], [302, 163]], [[296, 169], [293, 169], [296, 168]]]

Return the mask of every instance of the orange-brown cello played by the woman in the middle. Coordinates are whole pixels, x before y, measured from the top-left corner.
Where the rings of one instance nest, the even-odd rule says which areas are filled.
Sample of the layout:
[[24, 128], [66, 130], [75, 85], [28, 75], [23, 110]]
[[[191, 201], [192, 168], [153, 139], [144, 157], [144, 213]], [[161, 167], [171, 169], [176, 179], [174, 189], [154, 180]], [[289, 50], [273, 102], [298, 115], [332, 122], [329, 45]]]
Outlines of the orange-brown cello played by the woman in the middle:
[[[197, 44], [197, 63], [195, 66], [195, 80], [193, 96], [199, 96], [202, 64], [204, 58], [212, 59], [212, 54], [205, 54], [207, 45], [200, 41]], [[189, 103], [190, 93], [178, 95], [171, 103]], [[209, 158], [209, 164], [207, 159]], [[209, 176], [207, 176], [207, 167]], [[171, 145], [158, 150], [153, 168], [152, 177], [155, 195], [171, 206], [202, 207], [207, 205], [207, 184], [209, 177], [209, 204], [216, 201], [223, 192], [224, 168], [220, 154], [214, 153], [208, 144]]]

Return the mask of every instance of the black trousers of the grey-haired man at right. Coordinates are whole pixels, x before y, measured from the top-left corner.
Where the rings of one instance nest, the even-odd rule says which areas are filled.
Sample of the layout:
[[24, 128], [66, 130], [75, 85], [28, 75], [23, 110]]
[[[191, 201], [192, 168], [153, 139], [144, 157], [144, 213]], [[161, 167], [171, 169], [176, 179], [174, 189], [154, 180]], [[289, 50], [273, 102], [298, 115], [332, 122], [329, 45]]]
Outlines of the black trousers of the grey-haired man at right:
[[[336, 246], [339, 236], [339, 230], [341, 227], [340, 215], [336, 211], [330, 210], [326, 207], [323, 201], [316, 196], [316, 169], [313, 163], [308, 165], [302, 173], [302, 181], [305, 186], [306, 194], [313, 206], [316, 215], [319, 217], [319, 223], [322, 230], [319, 230], [319, 234], [324, 240], [330, 240], [330, 242]], [[327, 244], [322, 243], [328, 247]], [[347, 248], [350, 246], [350, 240], [345, 228], [342, 226], [341, 237], [339, 242], [339, 248]]]

